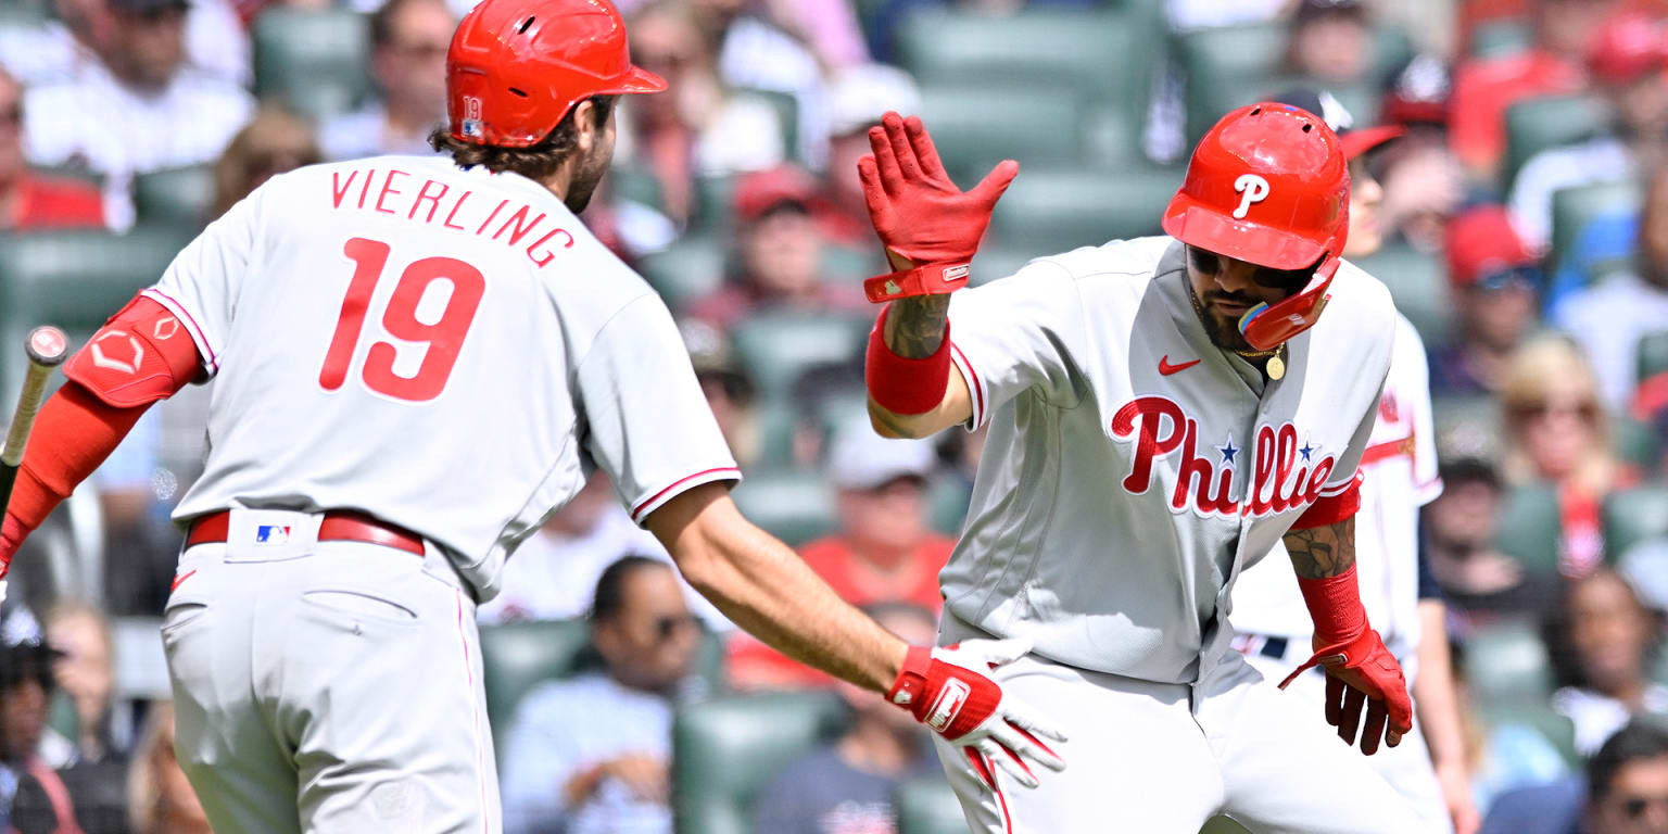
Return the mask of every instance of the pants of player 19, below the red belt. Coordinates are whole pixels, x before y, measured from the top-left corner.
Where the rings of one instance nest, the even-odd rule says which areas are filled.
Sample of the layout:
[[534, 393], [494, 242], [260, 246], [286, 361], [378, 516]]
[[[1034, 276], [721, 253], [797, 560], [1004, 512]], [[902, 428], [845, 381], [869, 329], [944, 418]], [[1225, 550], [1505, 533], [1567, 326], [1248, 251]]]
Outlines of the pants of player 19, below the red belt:
[[210, 826], [497, 834], [474, 600], [434, 545], [317, 542], [319, 520], [234, 510], [180, 557], [162, 639]]

